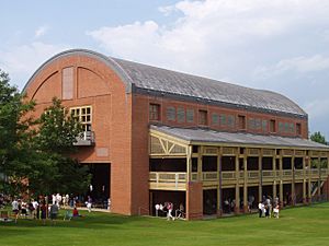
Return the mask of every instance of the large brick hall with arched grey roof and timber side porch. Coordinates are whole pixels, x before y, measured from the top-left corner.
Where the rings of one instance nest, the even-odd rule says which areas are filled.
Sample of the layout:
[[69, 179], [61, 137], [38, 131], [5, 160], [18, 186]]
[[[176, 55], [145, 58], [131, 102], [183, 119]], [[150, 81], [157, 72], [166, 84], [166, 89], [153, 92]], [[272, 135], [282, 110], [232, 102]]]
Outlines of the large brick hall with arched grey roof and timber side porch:
[[82, 49], [47, 60], [24, 92], [36, 115], [57, 96], [80, 119], [77, 157], [113, 212], [155, 214], [171, 201], [192, 220], [268, 196], [328, 198], [329, 149], [308, 140], [307, 114], [277, 93]]

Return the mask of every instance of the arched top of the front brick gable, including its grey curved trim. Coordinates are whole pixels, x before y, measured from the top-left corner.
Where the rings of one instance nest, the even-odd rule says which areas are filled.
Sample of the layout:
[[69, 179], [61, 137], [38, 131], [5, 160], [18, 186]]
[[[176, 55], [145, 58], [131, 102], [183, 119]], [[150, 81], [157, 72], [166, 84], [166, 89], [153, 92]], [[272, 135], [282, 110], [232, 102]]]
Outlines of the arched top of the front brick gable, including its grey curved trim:
[[131, 93], [131, 79], [116, 61], [91, 50], [73, 49], [44, 62], [27, 81], [23, 92], [37, 103], [49, 102], [53, 96], [82, 98], [95, 93], [110, 94], [111, 81], [120, 81], [123, 90]]

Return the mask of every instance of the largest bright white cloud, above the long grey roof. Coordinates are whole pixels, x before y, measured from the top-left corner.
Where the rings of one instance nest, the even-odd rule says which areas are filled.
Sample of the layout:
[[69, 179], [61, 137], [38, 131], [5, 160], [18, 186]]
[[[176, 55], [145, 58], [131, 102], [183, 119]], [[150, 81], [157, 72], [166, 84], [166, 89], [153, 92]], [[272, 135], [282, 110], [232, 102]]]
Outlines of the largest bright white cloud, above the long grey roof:
[[[266, 56], [252, 54], [250, 46], [254, 49], [258, 44], [264, 46], [305, 25], [311, 30], [313, 25], [328, 22], [328, 3], [321, 0], [179, 1], [159, 8], [163, 14], [180, 12], [182, 15], [174, 23], [135, 22], [100, 27], [87, 35], [113, 56], [236, 81], [239, 79], [236, 67], [253, 71], [258, 65], [250, 60], [263, 60]], [[282, 42], [277, 44], [281, 45]], [[262, 52], [266, 51], [271, 50], [263, 47]]]

